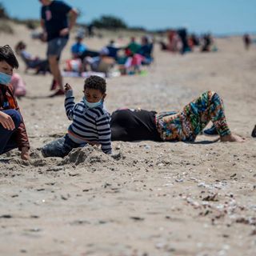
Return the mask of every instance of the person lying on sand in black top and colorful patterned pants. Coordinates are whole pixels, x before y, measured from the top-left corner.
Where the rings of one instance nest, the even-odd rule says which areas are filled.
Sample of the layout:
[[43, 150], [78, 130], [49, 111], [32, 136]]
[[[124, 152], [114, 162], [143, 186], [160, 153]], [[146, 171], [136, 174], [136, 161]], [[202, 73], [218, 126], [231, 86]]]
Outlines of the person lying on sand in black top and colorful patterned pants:
[[179, 112], [116, 110], [111, 115], [111, 140], [194, 142], [210, 121], [214, 123], [221, 142], [244, 141], [231, 134], [222, 99], [214, 91], [206, 91]]

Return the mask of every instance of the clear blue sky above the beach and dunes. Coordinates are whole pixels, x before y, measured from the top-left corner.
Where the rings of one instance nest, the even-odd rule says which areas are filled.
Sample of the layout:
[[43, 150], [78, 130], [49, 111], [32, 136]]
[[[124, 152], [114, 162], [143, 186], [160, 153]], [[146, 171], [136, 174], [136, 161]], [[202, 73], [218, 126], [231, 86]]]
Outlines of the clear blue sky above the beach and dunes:
[[[14, 18], [39, 18], [38, 0], [0, 0]], [[191, 32], [256, 32], [256, 0], [65, 0], [82, 11], [78, 22], [102, 14], [122, 18], [128, 26], [164, 29], [186, 26]]]

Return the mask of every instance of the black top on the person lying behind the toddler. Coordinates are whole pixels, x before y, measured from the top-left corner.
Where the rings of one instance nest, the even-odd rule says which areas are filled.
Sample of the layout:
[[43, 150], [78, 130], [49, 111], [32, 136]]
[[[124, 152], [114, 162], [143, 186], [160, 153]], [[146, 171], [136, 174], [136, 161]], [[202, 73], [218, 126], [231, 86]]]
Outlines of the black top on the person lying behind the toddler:
[[154, 111], [116, 110], [111, 115], [111, 140], [133, 142], [162, 141], [155, 125]]

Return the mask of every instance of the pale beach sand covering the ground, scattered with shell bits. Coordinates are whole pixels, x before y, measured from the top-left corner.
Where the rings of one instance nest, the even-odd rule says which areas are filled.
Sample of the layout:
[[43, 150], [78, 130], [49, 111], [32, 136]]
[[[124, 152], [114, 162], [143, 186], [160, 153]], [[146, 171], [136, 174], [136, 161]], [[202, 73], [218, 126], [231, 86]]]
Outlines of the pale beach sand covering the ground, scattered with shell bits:
[[[46, 45], [16, 25], [0, 45]], [[110, 38], [86, 39], [100, 49]], [[124, 38], [126, 40], [126, 38]], [[70, 45], [62, 61], [70, 56]], [[31, 144], [0, 157], [0, 255], [254, 255], [256, 251], [256, 46], [216, 39], [218, 52], [161, 52], [146, 76], [107, 79], [106, 107], [178, 110], [206, 90], [222, 96], [230, 129], [244, 143], [113, 142], [114, 155], [88, 146], [42, 158], [40, 146], [66, 133], [63, 98], [48, 98], [50, 74], [24, 74], [19, 100]], [[82, 78], [65, 78], [82, 97]]]

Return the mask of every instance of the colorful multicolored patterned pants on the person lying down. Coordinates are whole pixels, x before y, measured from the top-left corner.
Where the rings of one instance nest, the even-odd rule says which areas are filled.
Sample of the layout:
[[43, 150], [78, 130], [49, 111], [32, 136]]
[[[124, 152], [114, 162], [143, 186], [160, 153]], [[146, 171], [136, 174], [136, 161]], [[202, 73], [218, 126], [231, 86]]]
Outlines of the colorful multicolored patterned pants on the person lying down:
[[181, 112], [156, 115], [158, 132], [164, 141], [194, 142], [210, 121], [220, 136], [230, 134], [222, 99], [213, 91], [201, 94]]

